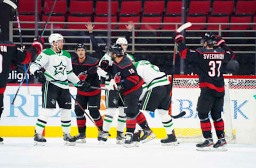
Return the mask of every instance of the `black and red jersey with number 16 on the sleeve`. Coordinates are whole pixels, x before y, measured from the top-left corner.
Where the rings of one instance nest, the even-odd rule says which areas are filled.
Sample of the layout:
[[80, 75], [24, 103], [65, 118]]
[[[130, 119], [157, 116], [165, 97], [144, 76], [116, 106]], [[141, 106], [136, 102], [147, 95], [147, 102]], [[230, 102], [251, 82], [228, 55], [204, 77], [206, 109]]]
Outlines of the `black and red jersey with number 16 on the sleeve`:
[[117, 63], [113, 63], [114, 68], [116, 68], [115, 81], [116, 83], [122, 84], [124, 87], [123, 94], [127, 95], [134, 90], [139, 89], [144, 81], [138, 75], [135, 66], [132, 64], [132, 61], [127, 56], [123, 56], [122, 60]]

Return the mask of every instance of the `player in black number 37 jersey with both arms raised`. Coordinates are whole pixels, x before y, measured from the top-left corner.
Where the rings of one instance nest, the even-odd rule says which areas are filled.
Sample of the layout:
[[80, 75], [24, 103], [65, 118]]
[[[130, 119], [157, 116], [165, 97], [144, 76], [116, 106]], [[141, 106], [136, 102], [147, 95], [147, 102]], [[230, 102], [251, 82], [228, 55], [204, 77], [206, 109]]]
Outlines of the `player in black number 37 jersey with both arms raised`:
[[[199, 87], [201, 93], [197, 102], [198, 117], [205, 141], [197, 144], [197, 150], [227, 150], [224, 135], [224, 122], [221, 118], [223, 110], [223, 97], [225, 94], [224, 80], [221, 71], [223, 63], [234, 58], [234, 53], [226, 45], [225, 40], [220, 36], [214, 36], [206, 32], [201, 40], [202, 47], [196, 50], [189, 50], [182, 43], [183, 36], [174, 32], [174, 39], [179, 45], [179, 52], [182, 58], [197, 63], [199, 67]], [[218, 48], [213, 48], [217, 44]], [[218, 141], [213, 144], [209, 112], [213, 119]]]

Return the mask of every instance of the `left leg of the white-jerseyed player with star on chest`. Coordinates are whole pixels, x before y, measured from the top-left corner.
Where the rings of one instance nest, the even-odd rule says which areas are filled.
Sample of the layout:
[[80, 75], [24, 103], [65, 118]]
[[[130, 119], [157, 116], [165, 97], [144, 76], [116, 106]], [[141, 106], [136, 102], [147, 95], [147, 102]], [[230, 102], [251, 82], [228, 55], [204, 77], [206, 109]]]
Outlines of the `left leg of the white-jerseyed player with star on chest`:
[[43, 108], [39, 113], [36, 122], [35, 136], [34, 136], [34, 145], [44, 146], [46, 139], [43, 138], [42, 132], [45, 128], [45, 125], [51, 115], [54, 113], [56, 108], [56, 99], [58, 97], [59, 87], [53, 85], [49, 81], [46, 81], [42, 85], [42, 102]]

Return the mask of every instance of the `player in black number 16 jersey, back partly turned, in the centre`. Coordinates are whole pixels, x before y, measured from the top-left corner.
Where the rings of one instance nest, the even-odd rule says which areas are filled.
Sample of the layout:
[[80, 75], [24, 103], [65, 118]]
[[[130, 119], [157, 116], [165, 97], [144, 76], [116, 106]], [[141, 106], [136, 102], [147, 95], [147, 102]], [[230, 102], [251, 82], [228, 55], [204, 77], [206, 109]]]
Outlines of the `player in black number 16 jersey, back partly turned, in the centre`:
[[[132, 61], [124, 56], [123, 48], [119, 44], [111, 45], [109, 48], [115, 73], [115, 82], [118, 85], [116, 90], [119, 96], [123, 96], [123, 104], [126, 106], [126, 135], [124, 146], [132, 147], [132, 137], [135, 130], [135, 124], [138, 123], [143, 129], [144, 135], [141, 137], [145, 140], [149, 136], [154, 136], [153, 131], [148, 127], [147, 120], [143, 113], [139, 111], [139, 97], [142, 93], [143, 79], [138, 75]], [[103, 136], [102, 136], [103, 138]], [[153, 138], [152, 138], [153, 139]]]

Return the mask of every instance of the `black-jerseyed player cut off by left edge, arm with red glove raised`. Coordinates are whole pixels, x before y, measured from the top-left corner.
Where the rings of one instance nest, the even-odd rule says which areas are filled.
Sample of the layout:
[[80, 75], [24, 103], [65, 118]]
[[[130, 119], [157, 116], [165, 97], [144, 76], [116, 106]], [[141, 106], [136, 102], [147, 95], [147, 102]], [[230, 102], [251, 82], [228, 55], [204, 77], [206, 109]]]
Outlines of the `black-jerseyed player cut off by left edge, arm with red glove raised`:
[[[34, 60], [35, 55], [41, 53], [43, 49], [43, 39], [34, 41], [29, 49], [23, 51], [11, 41], [4, 41], [2, 35], [0, 25], [0, 117], [4, 110], [4, 91], [11, 68], [17, 62], [22, 64], [31, 62], [31, 60]], [[3, 144], [3, 140], [0, 137], [0, 144]]]

